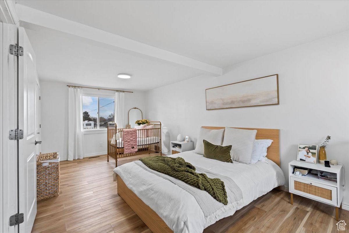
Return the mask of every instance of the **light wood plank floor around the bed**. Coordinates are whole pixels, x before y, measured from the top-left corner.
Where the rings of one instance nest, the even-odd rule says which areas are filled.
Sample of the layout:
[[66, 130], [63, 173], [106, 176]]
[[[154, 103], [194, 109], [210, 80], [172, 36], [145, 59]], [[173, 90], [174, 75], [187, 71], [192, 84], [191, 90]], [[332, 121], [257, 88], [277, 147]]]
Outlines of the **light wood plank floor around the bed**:
[[[118, 165], [138, 160], [132, 156], [118, 160]], [[106, 156], [62, 161], [61, 193], [38, 201], [32, 232], [151, 232], [132, 209], [118, 196], [112, 180], [115, 162]], [[205, 233], [337, 232], [334, 207], [273, 190], [258, 198], [233, 216], [205, 229]], [[349, 232], [349, 211], [340, 210]]]

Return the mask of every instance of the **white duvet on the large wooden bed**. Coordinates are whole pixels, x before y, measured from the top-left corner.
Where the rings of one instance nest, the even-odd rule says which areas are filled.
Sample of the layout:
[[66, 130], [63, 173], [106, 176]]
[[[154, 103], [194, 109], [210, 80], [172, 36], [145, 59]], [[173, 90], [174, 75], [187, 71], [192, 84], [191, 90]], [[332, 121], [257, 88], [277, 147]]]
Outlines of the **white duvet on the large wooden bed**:
[[[285, 183], [282, 170], [271, 160], [267, 160], [268, 163], [259, 161], [249, 165], [235, 161], [227, 163], [205, 158], [194, 151], [169, 156], [180, 156], [194, 166], [231, 177], [242, 190], [244, 203], [206, 222], [195, 198], [176, 184], [147, 172], [133, 162], [115, 168], [113, 172], [120, 175], [127, 187], [153, 209], [175, 233], [203, 232], [209, 225], [233, 215], [238, 209]], [[212, 201], [216, 200], [212, 198]]]

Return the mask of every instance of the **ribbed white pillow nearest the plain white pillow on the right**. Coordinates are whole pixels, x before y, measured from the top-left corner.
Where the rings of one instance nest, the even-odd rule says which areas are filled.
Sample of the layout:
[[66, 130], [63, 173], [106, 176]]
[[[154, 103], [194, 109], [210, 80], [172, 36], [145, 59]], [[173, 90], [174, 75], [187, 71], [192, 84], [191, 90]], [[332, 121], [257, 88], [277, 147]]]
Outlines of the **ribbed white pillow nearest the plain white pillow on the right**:
[[222, 146], [232, 145], [232, 160], [251, 163], [253, 143], [257, 130], [243, 130], [225, 127]]

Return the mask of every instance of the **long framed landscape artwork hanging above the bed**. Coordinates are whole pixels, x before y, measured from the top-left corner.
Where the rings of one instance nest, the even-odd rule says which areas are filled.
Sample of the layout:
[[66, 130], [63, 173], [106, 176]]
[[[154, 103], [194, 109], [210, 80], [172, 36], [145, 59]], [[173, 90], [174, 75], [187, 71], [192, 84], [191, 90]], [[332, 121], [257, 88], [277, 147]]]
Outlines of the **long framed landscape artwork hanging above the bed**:
[[206, 89], [206, 110], [274, 104], [279, 104], [278, 74]]

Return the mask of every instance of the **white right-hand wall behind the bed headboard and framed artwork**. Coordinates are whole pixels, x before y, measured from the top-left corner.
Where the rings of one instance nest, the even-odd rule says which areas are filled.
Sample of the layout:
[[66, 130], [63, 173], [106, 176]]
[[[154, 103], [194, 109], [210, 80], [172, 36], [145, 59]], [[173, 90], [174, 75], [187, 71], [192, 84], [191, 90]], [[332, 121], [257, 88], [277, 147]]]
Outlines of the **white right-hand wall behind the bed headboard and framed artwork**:
[[[205, 89], [279, 74], [280, 105], [206, 110]], [[288, 188], [288, 163], [298, 143], [319, 145], [332, 136], [328, 159], [346, 165], [343, 203], [349, 208], [349, 32], [343, 32], [224, 69], [148, 91], [148, 117], [166, 127], [163, 143], [179, 133], [194, 145], [200, 126], [280, 129], [281, 168]]]

